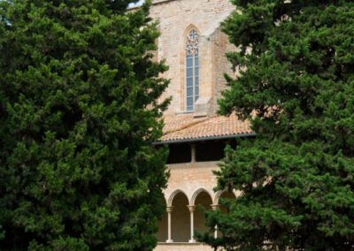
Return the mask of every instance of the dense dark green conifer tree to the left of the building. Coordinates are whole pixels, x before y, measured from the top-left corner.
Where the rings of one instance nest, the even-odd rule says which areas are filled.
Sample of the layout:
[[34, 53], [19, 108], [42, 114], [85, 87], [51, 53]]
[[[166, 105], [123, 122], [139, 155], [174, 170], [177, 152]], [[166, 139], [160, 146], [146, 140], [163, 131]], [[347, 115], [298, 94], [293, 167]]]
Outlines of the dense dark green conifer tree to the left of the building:
[[0, 2], [1, 250], [155, 247], [168, 81], [133, 2]]

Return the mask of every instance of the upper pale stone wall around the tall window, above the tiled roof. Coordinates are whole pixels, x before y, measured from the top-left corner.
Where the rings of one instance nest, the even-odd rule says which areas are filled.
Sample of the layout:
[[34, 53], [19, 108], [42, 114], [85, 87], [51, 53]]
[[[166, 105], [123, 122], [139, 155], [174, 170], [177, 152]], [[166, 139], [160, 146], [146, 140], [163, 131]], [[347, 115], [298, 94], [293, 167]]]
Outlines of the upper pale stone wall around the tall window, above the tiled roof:
[[191, 27], [200, 34], [200, 97], [212, 98], [211, 111], [215, 111], [216, 92], [224, 86], [223, 73], [230, 68], [226, 60], [219, 60], [226, 52], [227, 39], [215, 43], [215, 39], [222, 37], [215, 35], [215, 31], [235, 6], [228, 0], [158, 0], [154, 3], [150, 16], [159, 21], [161, 32], [157, 55], [170, 67], [165, 78], [170, 79], [171, 84], [162, 99], [173, 96], [173, 101], [166, 113], [185, 111], [185, 42]]

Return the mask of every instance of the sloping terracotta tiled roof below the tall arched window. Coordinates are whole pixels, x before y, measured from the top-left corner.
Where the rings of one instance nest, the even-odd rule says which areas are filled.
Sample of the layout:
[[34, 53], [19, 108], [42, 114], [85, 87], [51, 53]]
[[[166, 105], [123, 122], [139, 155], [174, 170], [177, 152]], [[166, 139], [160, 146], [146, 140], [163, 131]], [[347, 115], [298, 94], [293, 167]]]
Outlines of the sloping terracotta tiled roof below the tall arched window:
[[193, 114], [166, 116], [161, 141], [186, 141], [253, 133], [250, 123], [229, 117], [194, 118]]

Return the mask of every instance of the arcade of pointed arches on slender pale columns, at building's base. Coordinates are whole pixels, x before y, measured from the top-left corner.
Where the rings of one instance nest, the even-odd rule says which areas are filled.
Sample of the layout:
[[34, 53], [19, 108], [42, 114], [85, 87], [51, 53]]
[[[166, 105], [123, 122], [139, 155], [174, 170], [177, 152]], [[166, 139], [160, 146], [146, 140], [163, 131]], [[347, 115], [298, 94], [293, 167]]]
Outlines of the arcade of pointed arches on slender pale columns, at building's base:
[[[204, 188], [189, 194], [181, 189], [174, 190], [166, 197], [165, 215], [158, 225], [158, 242], [196, 242], [195, 232], [209, 231], [205, 226], [204, 213], [200, 206], [204, 209], [218, 209], [219, 198], [236, 198], [236, 196], [237, 193], [227, 191], [214, 193]], [[218, 236], [217, 230], [214, 236]]]

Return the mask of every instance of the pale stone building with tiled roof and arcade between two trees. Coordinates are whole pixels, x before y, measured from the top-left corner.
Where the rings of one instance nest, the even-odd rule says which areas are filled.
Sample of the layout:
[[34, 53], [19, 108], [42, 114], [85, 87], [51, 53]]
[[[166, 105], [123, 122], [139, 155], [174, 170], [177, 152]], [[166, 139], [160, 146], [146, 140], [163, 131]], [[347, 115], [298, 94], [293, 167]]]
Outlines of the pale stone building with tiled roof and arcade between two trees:
[[223, 74], [234, 74], [225, 53], [235, 48], [220, 22], [234, 10], [229, 0], [155, 0], [150, 10], [161, 32], [156, 57], [170, 67], [164, 77], [171, 84], [162, 98], [173, 97], [165, 111], [164, 135], [157, 142], [170, 148], [171, 174], [158, 251], [212, 250], [194, 237], [195, 231], [207, 230], [198, 205], [215, 209], [219, 197], [237, 195], [213, 191], [212, 174], [227, 143], [253, 136], [249, 125], [235, 116], [216, 115], [220, 91], [226, 87]]

